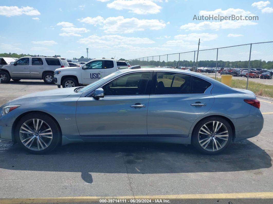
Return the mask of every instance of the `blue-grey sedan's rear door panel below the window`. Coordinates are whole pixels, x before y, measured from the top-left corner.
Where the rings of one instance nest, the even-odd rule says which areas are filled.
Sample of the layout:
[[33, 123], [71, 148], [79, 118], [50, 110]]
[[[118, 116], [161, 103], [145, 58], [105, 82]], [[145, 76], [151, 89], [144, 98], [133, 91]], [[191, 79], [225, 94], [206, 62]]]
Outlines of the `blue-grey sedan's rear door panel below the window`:
[[[192, 106], [196, 102], [206, 106]], [[210, 94], [151, 95], [147, 113], [148, 135], [188, 137], [192, 123], [209, 111], [214, 102]]]

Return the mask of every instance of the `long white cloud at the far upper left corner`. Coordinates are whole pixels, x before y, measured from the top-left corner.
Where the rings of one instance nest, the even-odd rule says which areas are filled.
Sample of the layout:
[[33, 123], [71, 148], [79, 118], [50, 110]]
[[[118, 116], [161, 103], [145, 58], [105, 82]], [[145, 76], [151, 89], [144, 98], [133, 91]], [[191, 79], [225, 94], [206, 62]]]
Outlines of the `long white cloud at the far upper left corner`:
[[28, 16], [37, 16], [41, 13], [34, 9], [33, 7], [29, 6], [22, 6], [21, 8], [18, 8], [17, 6], [0, 6], [0, 15], [2, 16], [20, 16], [22, 14], [26, 14]]

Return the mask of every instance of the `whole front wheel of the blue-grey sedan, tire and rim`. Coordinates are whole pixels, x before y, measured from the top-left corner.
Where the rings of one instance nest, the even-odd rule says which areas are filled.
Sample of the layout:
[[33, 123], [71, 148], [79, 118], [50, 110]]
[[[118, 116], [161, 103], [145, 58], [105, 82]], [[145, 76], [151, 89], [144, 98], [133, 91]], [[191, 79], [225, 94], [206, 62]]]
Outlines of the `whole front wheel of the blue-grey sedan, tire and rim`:
[[50, 116], [30, 113], [18, 121], [15, 137], [18, 144], [26, 151], [44, 154], [60, 143], [61, 130]]

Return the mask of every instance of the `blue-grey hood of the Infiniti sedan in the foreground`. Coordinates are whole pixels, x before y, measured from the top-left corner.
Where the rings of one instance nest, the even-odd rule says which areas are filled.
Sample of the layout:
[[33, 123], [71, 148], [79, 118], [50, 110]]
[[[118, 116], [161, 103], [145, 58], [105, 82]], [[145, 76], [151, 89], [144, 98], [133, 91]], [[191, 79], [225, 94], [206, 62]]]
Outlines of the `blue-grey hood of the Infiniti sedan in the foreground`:
[[74, 90], [76, 87], [71, 88], [63, 88], [63, 89], [53, 89], [43, 92], [35, 92], [31, 94], [27, 94], [16, 98], [10, 102], [18, 102], [18, 101], [31, 101], [31, 100], [40, 100], [40, 99], [57, 99], [57, 98], [66, 98], [67, 96], [74, 94]]

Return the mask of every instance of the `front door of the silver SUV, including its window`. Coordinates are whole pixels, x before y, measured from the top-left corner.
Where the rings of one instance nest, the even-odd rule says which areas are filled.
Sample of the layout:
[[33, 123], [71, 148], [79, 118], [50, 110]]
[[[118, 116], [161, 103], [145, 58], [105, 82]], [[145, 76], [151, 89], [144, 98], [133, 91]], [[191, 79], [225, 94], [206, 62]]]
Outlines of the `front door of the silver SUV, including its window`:
[[16, 61], [16, 66], [11, 65], [11, 78], [30, 78], [29, 57]]

